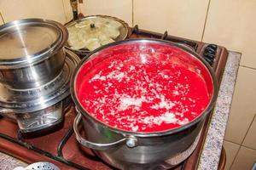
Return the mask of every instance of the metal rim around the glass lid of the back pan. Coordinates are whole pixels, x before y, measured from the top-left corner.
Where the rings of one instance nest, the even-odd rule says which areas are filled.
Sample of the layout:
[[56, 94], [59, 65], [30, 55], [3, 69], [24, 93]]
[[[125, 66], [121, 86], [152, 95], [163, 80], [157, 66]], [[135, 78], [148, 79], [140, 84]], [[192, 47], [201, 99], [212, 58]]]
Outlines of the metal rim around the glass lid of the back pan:
[[[80, 20], [74, 20], [73, 22], [67, 24], [67, 28], [70, 26], [74, 26], [75, 24], [83, 21], [83, 20], [90, 20], [90, 19], [96, 19], [96, 18], [108, 18], [110, 20], [115, 20], [118, 21], [122, 26], [119, 28], [119, 37], [115, 38], [115, 41], [121, 41], [124, 40], [128, 34], [129, 34], [129, 26], [127, 23], [125, 23], [124, 20], [119, 20], [118, 18], [112, 17], [112, 16], [107, 16], [107, 15], [90, 15], [90, 16], [86, 16], [83, 19]], [[84, 54], [88, 54], [90, 53], [90, 51], [86, 48], [82, 48], [79, 50], [74, 50], [72, 48], [70, 48], [70, 46], [68, 44], [66, 44], [65, 48], [68, 48], [70, 50], [72, 50], [75, 54], [80, 54], [80, 55], [84, 55]]]

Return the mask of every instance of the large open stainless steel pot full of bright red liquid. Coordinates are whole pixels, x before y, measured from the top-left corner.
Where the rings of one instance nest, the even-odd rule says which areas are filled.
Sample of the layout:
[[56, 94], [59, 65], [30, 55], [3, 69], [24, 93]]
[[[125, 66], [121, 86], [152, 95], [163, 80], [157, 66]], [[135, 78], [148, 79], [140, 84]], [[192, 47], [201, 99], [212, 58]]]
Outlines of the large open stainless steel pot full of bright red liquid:
[[88, 56], [71, 84], [80, 144], [121, 169], [172, 167], [195, 150], [217, 97], [204, 59], [153, 39], [114, 42]]

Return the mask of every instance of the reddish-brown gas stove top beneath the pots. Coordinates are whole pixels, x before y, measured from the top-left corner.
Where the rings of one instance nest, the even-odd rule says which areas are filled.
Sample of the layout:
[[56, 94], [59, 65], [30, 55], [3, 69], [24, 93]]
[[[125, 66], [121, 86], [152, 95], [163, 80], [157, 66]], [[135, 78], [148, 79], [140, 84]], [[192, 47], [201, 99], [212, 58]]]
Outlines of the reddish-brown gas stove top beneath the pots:
[[[130, 36], [128, 38], [157, 38], [170, 42], [177, 42], [191, 50], [195, 50], [197, 54], [207, 60], [215, 71], [218, 82], [224, 71], [224, 65], [228, 56], [228, 52], [224, 47], [215, 44], [207, 44], [205, 42], [197, 42], [181, 37], [173, 37], [168, 35], [167, 31], [156, 33], [145, 31], [134, 26], [130, 28]], [[54, 163], [61, 169], [114, 169], [102, 162], [95, 154], [78, 144], [73, 133], [73, 119], [76, 111], [73, 102], [66, 108], [64, 121], [57, 127], [51, 127], [45, 132], [22, 134], [15, 122], [11, 122], [6, 117], [0, 119], [0, 151], [14, 156], [27, 163], [35, 161], [49, 161]], [[186, 161], [183, 161], [177, 167], [172, 169], [195, 169], [197, 166], [203, 141], [206, 137], [209, 115], [203, 127], [199, 144], [195, 151]]]

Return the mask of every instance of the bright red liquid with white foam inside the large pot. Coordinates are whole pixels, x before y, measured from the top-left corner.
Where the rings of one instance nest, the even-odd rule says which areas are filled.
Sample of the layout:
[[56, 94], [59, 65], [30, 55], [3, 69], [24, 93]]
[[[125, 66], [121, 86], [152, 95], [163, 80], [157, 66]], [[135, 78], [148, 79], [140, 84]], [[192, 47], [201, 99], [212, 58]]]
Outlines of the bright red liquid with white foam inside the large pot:
[[151, 133], [183, 126], [206, 109], [207, 82], [179, 59], [187, 53], [169, 46], [117, 49], [80, 76], [78, 98], [90, 116], [110, 127]]

